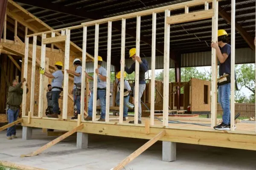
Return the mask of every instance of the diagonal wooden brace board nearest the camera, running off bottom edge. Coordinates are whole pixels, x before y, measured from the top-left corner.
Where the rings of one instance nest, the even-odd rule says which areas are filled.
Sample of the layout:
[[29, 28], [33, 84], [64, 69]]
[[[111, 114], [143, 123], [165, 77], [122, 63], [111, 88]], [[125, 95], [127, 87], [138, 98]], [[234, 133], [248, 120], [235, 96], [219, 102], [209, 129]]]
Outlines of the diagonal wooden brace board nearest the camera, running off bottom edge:
[[125, 169], [125, 165], [130, 163], [132, 160], [134, 160], [137, 156], [139, 156], [141, 153], [143, 153], [148, 147], [151, 147], [155, 142], [157, 142], [159, 139], [161, 139], [163, 136], [165, 136], [165, 130], [160, 131], [156, 136], [154, 136], [152, 139], [150, 139], [147, 143], [143, 144], [139, 149], [135, 150], [134, 153], [129, 155], [127, 158], [125, 158], [120, 164], [118, 164], [116, 167], [112, 168], [112, 170], [121, 170]]

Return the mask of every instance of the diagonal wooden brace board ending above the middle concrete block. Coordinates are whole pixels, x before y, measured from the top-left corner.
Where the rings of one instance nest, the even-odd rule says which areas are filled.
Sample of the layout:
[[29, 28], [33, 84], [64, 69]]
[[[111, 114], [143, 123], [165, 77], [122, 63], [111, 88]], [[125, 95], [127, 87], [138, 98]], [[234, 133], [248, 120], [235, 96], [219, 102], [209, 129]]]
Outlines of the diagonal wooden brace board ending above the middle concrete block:
[[68, 131], [67, 133], [64, 133], [63, 135], [59, 136], [58, 138], [54, 139], [53, 141], [45, 144], [44, 146], [40, 147], [38, 150], [35, 150], [32, 153], [29, 153], [27, 155], [21, 155], [20, 157], [29, 157], [29, 156], [36, 156], [39, 153], [43, 152], [44, 150], [48, 149], [49, 147], [53, 146], [54, 144], [60, 142], [61, 140], [67, 138], [68, 136], [72, 135], [73, 133], [77, 132], [78, 130], [81, 130], [84, 127], [84, 124], [81, 124], [77, 127], [75, 127], [73, 130]]

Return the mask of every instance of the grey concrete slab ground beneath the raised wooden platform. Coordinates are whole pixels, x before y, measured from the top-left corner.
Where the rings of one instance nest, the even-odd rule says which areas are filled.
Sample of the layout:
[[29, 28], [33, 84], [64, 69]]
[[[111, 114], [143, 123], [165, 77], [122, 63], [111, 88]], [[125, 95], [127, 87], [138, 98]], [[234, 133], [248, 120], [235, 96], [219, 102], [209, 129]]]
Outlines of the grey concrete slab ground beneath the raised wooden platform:
[[[76, 149], [76, 136], [50, 147], [38, 156], [20, 158], [55, 139], [33, 129], [32, 140], [7, 140], [0, 132], [0, 160], [48, 170], [110, 170], [146, 140], [90, 135], [87, 149]], [[255, 170], [256, 151], [177, 143], [177, 161], [162, 161], [162, 142], [157, 142], [128, 164], [126, 170]]]

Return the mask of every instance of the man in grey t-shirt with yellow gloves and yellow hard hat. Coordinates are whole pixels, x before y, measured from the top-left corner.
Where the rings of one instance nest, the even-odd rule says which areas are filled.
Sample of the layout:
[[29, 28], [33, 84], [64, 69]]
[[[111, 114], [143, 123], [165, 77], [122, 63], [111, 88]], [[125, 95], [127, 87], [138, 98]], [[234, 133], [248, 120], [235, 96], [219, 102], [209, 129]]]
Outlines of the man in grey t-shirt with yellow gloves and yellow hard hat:
[[47, 117], [53, 117], [53, 118], [58, 118], [58, 113], [59, 113], [59, 104], [58, 104], [58, 99], [60, 97], [61, 91], [63, 91], [62, 88], [62, 82], [63, 82], [63, 73], [61, 71], [63, 67], [62, 62], [58, 61], [55, 63], [55, 72], [47, 73], [44, 71], [43, 68], [40, 70], [40, 74], [45, 75], [46, 77], [52, 79], [52, 112], [48, 113], [46, 116]]

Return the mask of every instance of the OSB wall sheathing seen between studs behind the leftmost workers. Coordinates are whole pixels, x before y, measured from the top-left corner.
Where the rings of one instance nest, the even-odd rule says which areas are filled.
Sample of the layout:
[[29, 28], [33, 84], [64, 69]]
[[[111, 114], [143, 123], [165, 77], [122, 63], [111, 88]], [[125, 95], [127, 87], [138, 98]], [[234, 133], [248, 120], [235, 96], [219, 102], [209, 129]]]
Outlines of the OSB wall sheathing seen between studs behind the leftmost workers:
[[[29, 48], [29, 51], [32, 52], [32, 48]], [[31, 56], [32, 57], [32, 56]], [[40, 59], [41, 57], [41, 49], [37, 49], [37, 58]], [[46, 51], [46, 57], [49, 58], [49, 65], [54, 65], [55, 62], [61, 61], [64, 64], [64, 53], [56, 53], [52, 51]], [[75, 70], [73, 66], [73, 60], [75, 57], [70, 56], [70, 69]], [[24, 63], [24, 62], [23, 62]], [[23, 77], [23, 70], [24, 70], [24, 65], [22, 64], [22, 75]], [[26, 97], [26, 114], [30, 110], [30, 91], [31, 91], [31, 75], [32, 75], [32, 62], [29, 61], [28, 64], [28, 77], [27, 77], [27, 83], [28, 83], [28, 88], [29, 92]], [[52, 79], [49, 79], [49, 83], [51, 82]], [[34, 116], [38, 115], [38, 102], [39, 102], [39, 85], [40, 85], [40, 74], [39, 74], [39, 67], [36, 67], [36, 72], [35, 72], [35, 97], [34, 97]], [[47, 89], [47, 87], [45, 87]], [[69, 94], [71, 94], [71, 91], [73, 89], [73, 79], [69, 79]], [[61, 96], [63, 96], [63, 92], [61, 93]], [[72, 95], [73, 96], [73, 95]], [[46, 96], [45, 96], [46, 97]], [[59, 99], [59, 107], [61, 108], [62, 111], [62, 99]], [[68, 98], [68, 116], [73, 115], [73, 101]], [[44, 117], [46, 115], [44, 114]]]

